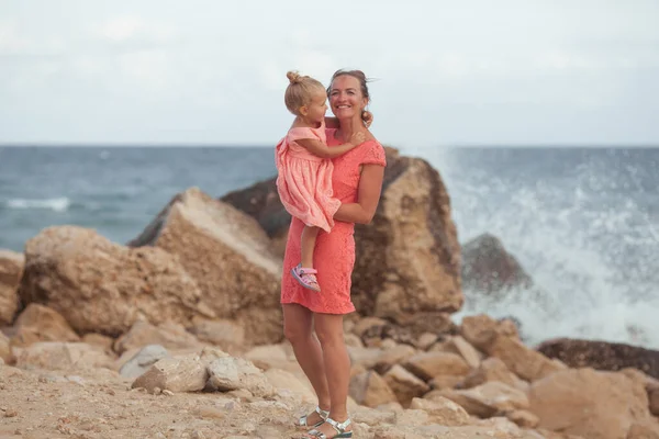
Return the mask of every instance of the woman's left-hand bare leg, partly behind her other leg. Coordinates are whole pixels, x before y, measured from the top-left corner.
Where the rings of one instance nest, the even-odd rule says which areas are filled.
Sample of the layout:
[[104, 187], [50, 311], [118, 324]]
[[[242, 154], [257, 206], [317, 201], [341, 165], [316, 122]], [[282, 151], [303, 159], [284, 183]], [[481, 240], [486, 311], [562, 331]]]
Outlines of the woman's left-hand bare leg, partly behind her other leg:
[[[283, 304], [283, 335], [291, 342], [295, 359], [311, 382], [319, 397], [319, 407], [330, 409], [330, 391], [325, 378], [323, 352], [321, 345], [313, 335], [313, 314], [304, 306], [291, 303]], [[309, 415], [309, 425], [321, 420], [317, 413]]]

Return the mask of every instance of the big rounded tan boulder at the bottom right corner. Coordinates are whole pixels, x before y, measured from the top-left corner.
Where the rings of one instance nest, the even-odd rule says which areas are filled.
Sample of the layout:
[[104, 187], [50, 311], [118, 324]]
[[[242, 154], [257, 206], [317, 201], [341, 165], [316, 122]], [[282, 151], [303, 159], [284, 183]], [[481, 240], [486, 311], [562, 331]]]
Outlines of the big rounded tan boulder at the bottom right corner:
[[624, 439], [650, 419], [644, 386], [623, 373], [568, 369], [530, 385], [530, 412], [548, 430], [592, 439]]

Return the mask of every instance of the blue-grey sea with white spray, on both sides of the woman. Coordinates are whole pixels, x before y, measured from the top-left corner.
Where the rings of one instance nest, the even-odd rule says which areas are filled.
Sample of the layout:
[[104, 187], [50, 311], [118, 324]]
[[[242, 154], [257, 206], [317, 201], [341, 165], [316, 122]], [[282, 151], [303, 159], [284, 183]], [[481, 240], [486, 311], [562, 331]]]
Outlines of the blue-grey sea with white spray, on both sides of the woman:
[[[461, 244], [499, 237], [552, 306], [517, 291], [465, 291], [454, 317], [514, 317], [532, 344], [556, 337], [659, 349], [659, 148], [401, 148], [431, 162]], [[221, 196], [275, 176], [271, 147], [0, 147], [0, 248], [74, 224], [125, 244], [176, 193]]]

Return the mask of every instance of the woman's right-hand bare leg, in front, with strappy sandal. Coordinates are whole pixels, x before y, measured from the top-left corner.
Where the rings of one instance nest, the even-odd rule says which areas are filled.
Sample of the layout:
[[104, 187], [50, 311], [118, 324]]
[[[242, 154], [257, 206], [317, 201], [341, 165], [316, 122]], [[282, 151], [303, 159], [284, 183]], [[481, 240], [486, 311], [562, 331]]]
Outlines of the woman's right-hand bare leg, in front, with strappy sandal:
[[[323, 361], [330, 389], [330, 417], [343, 423], [348, 418], [347, 402], [350, 384], [350, 358], [344, 340], [343, 315], [314, 314], [314, 326], [323, 348]], [[327, 424], [323, 424], [317, 429], [328, 438], [336, 434]]]

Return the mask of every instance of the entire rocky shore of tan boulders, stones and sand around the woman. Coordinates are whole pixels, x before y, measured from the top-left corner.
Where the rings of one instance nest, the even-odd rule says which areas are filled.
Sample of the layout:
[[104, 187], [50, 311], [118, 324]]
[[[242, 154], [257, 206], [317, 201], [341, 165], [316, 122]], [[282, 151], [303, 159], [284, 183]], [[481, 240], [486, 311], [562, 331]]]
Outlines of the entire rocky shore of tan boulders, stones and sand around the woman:
[[[388, 164], [355, 233], [355, 437], [659, 438], [659, 352], [454, 322], [462, 283], [496, 300], [533, 280], [495, 237], [460, 246], [427, 162]], [[0, 251], [0, 438], [301, 437], [314, 398], [281, 331], [289, 221], [273, 180], [191, 188], [126, 245], [57, 226]]]

